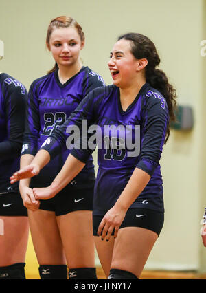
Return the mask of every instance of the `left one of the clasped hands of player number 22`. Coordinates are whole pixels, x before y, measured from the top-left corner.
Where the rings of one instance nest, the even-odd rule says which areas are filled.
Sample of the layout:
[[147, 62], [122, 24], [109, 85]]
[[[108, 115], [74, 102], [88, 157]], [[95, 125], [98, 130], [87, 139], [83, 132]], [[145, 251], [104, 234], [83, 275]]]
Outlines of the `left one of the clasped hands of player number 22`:
[[38, 210], [40, 202], [34, 198], [32, 188], [27, 186], [21, 186], [20, 188], [21, 198], [23, 205], [29, 210]]

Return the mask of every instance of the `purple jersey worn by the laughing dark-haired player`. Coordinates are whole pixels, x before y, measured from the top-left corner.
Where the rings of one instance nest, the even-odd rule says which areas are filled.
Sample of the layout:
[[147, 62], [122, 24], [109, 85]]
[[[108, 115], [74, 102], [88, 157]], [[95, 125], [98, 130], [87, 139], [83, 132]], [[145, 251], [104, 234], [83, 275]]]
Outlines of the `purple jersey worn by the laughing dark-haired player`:
[[[109, 85], [95, 89], [82, 100], [76, 111], [51, 135], [41, 149], [49, 151], [54, 158], [66, 148], [69, 138], [68, 126], [78, 125], [81, 129], [82, 120], [87, 120], [88, 131], [92, 124], [96, 124], [102, 135], [100, 142], [107, 145], [106, 148], [98, 147], [99, 169], [95, 182], [93, 214], [104, 215], [115, 204], [135, 168], [144, 170], [151, 178], [130, 208], [144, 207], [163, 212], [163, 182], [159, 160], [169, 116], [165, 98], [159, 91], [146, 83], [133, 103], [123, 111], [118, 87]], [[112, 131], [106, 132], [106, 125], [122, 125], [123, 128], [113, 135]], [[137, 146], [136, 153], [134, 155], [132, 152], [131, 155], [132, 148], [124, 142], [125, 138], [134, 140], [135, 128], [139, 129], [139, 139], [136, 145], [134, 144]], [[131, 129], [134, 131], [129, 131]], [[87, 150], [73, 149], [71, 154], [78, 160], [87, 162], [91, 152], [88, 147]]]

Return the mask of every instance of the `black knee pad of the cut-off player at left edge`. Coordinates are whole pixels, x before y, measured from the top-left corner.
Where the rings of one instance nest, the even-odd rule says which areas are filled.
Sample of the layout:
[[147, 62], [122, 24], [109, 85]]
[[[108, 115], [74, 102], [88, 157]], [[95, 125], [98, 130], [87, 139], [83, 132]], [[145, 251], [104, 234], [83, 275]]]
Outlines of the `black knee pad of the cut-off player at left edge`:
[[25, 279], [25, 263], [14, 263], [6, 267], [0, 267], [0, 280]]

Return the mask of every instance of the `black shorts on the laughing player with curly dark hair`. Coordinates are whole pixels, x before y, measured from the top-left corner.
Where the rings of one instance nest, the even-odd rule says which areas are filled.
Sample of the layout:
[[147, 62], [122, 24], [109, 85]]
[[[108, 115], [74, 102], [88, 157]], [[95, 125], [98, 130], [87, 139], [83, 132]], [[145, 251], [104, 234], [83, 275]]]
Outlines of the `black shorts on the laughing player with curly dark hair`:
[[[93, 215], [93, 235], [98, 236], [98, 227], [104, 216]], [[164, 222], [164, 213], [148, 208], [129, 208], [122, 225], [124, 227], [141, 227], [151, 230], [159, 236]], [[114, 235], [114, 231], [112, 233]]]

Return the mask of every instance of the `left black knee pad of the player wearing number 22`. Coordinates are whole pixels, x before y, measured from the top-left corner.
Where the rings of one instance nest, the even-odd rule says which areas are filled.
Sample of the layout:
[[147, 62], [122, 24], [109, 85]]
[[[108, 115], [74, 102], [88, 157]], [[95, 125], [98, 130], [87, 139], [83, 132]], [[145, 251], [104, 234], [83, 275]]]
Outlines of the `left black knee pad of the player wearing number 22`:
[[67, 279], [67, 265], [39, 265], [41, 279]]

